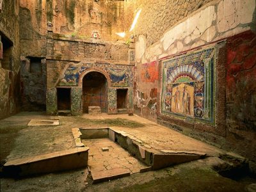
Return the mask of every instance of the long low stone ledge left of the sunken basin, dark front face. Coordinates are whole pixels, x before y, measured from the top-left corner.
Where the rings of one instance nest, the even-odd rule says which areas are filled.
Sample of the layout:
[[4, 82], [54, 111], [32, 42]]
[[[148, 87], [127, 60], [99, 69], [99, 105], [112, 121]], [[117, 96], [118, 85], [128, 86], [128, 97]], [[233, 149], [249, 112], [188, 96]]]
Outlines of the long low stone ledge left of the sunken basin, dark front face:
[[88, 164], [88, 147], [72, 148], [39, 156], [7, 161], [4, 175], [24, 176], [81, 168]]

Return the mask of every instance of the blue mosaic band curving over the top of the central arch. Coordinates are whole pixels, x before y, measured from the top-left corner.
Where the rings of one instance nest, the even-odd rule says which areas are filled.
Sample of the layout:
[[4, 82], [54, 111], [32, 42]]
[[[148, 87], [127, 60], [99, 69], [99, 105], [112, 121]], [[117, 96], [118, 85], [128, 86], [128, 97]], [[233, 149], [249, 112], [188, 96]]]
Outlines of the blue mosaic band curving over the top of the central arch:
[[83, 64], [81, 66], [70, 66], [65, 72], [64, 76], [58, 83], [59, 86], [77, 86], [79, 77], [88, 68], [100, 68], [109, 75], [111, 79], [111, 86], [114, 87], [128, 87], [132, 86], [133, 70], [131, 66], [124, 65], [109, 65], [109, 64]]

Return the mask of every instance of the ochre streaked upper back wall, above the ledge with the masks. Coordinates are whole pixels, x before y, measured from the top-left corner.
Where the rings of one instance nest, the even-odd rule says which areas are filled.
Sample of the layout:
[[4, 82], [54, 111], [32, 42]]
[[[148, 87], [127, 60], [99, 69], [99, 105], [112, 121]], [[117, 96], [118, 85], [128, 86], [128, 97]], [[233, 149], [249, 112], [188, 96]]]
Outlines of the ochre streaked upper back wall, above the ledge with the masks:
[[124, 31], [123, 1], [20, 0], [20, 43], [24, 56], [45, 56], [47, 22], [52, 31], [67, 36], [117, 40]]

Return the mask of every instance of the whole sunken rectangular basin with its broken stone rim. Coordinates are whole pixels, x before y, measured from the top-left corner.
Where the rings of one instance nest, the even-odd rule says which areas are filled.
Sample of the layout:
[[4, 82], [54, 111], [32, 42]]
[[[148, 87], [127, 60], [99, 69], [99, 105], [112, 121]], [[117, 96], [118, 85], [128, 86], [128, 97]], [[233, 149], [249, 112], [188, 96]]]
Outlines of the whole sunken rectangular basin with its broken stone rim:
[[156, 150], [125, 131], [73, 128], [77, 147], [88, 147], [93, 183], [157, 170], [205, 157], [203, 153]]

